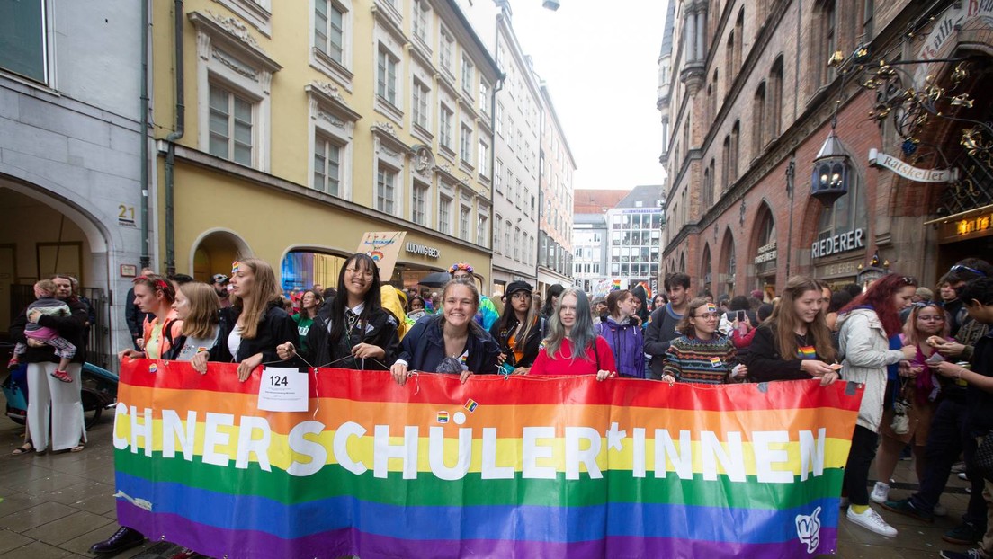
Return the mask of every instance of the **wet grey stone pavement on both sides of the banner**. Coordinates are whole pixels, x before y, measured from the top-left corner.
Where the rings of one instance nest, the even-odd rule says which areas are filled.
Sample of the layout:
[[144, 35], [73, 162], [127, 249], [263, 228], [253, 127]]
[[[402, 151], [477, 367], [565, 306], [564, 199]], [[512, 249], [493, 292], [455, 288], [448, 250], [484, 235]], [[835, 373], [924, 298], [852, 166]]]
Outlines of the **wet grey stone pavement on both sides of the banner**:
[[[2, 401], [2, 396], [0, 396]], [[89, 546], [117, 529], [114, 511], [113, 445], [110, 414], [89, 432], [89, 442], [80, 453], [34, 453], [11, 456], [21, 444], [23, 428], [0, 417], [0, 559], [48, 559], [93, 557]], [[875, 472], [875, 470], [873, 470]], [[916, 477], [910, 461], [901, 461], [895, 479], [911, 489], [893, 489], [902, 498], [913, 491]], [[873, 534], [853, 526], [842, 517], [838, 556], [846, 559], [934, 558], [941, 549], [965, 550], [941, 540], [945, 530], [958, 523], [968, 494], [965, 483], [954, 476], [941, 503], [948, 515], [933, 524], [894, 514], [876, 507], [900, 530], [896, 538]], [[153, 559], [169, 557], [175, 549], [162, 542], [146, 542], [114, 557]], [[826, 557], [826, 556], [825, 556]]]

